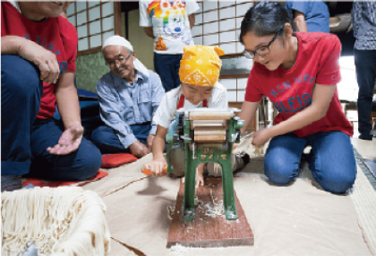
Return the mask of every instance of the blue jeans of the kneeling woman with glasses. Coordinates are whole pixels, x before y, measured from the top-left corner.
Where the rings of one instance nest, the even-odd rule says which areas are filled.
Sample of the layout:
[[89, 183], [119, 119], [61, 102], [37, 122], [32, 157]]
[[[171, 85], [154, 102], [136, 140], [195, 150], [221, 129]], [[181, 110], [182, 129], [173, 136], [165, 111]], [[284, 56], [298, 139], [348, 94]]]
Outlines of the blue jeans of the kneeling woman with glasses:
[[312, 146], [309, 166], [320, 186], [333, 193], [344, 193], [355, 183], [356, 163], [350, 137], [344, 132], [317, 132], [304, 138], [295, 133], [274, 137], [265, 155], [265, 175], [276, 184], [295, 180], [303, 149]]

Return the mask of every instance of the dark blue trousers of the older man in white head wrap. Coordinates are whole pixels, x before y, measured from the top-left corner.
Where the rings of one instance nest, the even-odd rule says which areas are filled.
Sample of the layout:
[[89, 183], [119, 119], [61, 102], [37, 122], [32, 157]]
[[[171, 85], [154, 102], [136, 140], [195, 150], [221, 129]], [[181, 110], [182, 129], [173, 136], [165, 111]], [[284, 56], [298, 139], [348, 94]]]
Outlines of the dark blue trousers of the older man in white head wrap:
[[[131, 125], [131, 129], [137, 140], [146, 145], [151, 124], [135, 124]], [[129, 149], [124, 148], [114, 129], [107, 125], [102, 125], [95, 129], [91, 133], [91, 141], [94, 142], [102, 154], [130, 153]]]

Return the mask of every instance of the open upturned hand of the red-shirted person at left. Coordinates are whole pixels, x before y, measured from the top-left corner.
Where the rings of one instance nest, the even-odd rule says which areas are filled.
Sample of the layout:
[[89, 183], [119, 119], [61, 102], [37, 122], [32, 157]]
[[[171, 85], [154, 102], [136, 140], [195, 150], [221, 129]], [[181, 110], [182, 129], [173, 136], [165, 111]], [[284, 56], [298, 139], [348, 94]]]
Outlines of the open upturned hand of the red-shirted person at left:
[[80, 147], [83, 134], [83, 127], [81, 125], [73, 126], [66, 129], [59, 141], [54, 147], [49, 147], [46, 150], [53, 155], [67, 155], [77, 150]]

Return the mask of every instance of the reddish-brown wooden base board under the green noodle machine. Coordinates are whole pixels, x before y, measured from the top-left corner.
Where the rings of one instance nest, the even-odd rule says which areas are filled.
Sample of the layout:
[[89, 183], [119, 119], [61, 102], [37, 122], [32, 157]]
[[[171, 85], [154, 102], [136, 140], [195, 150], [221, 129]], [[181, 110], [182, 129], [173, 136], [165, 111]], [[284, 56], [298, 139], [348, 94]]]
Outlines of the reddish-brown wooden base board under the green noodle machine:
[[[215, 215], [210, 211], [215, 204], [223, 201], [222, 179], [205, 177], [204, 181], [205, 186], [196, 192], [199, 201], [194, 210], [194, 220], [190, 223], [181, 221], [182, 205], [184, 202], [184, 183], [180, 183], [175, 211], [172, 215], [173, 220], [168, 235], [167, 248], [175, 244], [186, 247], [253, 245], [254, 235], [247, 218], [245, 218], [244, 210], [237, 199], [236, 193], [235, 201], [238, 218], [237, 220], [227, 220], [224, 213], [222, 215]], [[214, 209], [216, 208], [214, 207]]]

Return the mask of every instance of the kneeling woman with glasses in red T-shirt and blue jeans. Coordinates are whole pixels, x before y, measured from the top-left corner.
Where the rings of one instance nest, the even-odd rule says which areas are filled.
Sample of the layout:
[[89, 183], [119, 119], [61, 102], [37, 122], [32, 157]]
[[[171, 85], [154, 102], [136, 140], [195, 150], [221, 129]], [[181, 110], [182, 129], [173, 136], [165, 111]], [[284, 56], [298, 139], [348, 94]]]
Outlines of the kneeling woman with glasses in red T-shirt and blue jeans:
[[271, 139], [265, 175], [277, 184], [293, 181], [311, 145], [313, 177], [324, 190], [344, 193], [355, 182], [356, 165], [353, 127], [338, 99], [341, 45], [333, 34], [293, 32], [292, 23], [278, 3], [261, 2], [245, 14], [240, 40], [254, 65], [239, 115], [242, 133], [268, 97], [278, 109], [274, 125], [250, 135], [257, 147]]

